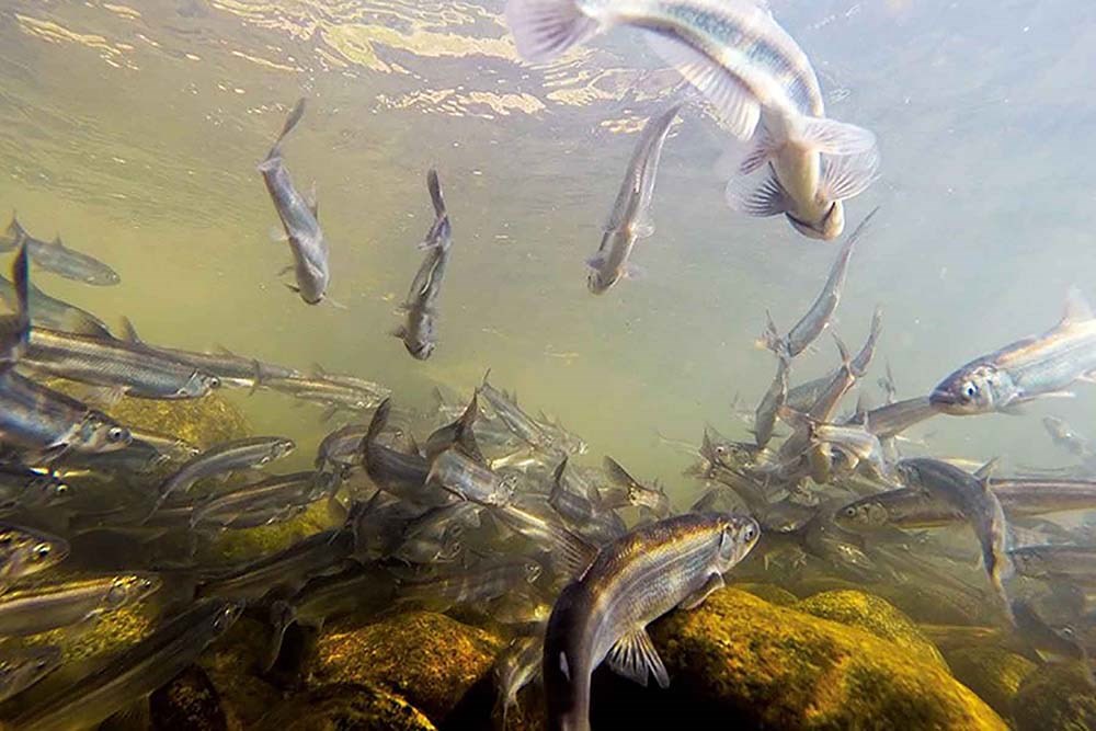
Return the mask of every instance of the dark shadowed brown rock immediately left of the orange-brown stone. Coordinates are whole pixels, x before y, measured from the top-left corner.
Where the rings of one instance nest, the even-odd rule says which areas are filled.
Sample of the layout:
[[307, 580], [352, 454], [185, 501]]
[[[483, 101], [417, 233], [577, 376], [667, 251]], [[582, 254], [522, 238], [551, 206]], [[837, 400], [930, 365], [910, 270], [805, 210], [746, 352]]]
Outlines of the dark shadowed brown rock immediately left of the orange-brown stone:
[[282, 699], [277, 688], [259, 677], [269, 638], [264, 623], [243, 616], [198, 659], [229, 720], [246, 729], [254, 728]]

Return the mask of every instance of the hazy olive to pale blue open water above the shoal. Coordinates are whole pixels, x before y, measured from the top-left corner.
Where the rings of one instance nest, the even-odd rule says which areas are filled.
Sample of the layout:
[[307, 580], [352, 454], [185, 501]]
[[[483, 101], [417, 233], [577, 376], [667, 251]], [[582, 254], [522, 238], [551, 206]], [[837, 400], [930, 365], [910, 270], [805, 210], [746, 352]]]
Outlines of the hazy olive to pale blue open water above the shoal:
[[[774, 0], [814, 61], [829, 113], [874, 129], [883, 176], [853, 202], [882, 212], [856, 252], [835, 330], [852, 346], [877, 304], [880, 357], [901, 397], [967, 359], [1049, 328], [1064, 292], [1096, 296], [1091, 232], [1096, 132], [1088, 69], [1096, 8], [943, 1]], [[122, 275], [91, 288], [48, 274], [54, 296], [153, 343], [319, 362], [390, 386], [401, 404], [492, 368], [523, 406], [560, 416], [672, 494], [689, 458], [657, 430], [732, 436], [773, 373], [753, 346], [814, 297], [835, 248], [722, 203], [718, 127], [690, 108], [663, 156], [647, 275], [585, 287], [635, 137], [677, 83], [637, 36], [614, 34], [547, 67], [516, 57], [501, 1], [7, 2], [0, 9], [0, 207], [60, 232]], [[316, 180], [331, 241], [330, 295], [307, 307], [255, 172], [288, 106], [301, 187]], [[436, 165], [454, 221], [441, 345], [412, 361], [387, 331], [419, 264]], [[827, 369], [833, 345], [794, 380]], [[798, 364], [797, 364], [798, 366]], [[874, 390], [869, 387], [869, 390]], [[236, 396], [261, 432], [322, 435], [319, 410]], [[1092, 389], [1025, 418], [940, 418], [914, 432], [935, 455], [1061, 461], [1038, 415], [1084, 431]], [[681, 492], [678, 492], [681, 491]]]

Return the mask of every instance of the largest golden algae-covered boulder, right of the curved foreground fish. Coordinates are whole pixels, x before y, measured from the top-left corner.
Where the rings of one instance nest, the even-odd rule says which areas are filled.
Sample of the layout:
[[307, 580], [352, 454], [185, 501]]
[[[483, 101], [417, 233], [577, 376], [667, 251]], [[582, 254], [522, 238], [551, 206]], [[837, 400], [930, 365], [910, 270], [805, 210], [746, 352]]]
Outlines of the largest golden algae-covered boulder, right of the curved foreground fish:
[[931, 655], [745, 592], [716, 592], [651, 629], [683, 709], [722, 726], [1006, 728]]

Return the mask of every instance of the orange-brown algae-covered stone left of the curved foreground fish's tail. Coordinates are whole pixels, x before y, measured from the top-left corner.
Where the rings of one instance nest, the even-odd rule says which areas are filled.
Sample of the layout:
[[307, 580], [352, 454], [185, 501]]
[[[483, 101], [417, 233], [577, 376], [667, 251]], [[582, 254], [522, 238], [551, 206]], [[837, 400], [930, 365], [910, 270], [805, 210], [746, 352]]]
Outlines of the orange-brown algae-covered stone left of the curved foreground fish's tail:
[[491, 672], [502, 640], [445, 615], [413, 612], [320, 638], [316, 682], [375, 684], [442, 723]]

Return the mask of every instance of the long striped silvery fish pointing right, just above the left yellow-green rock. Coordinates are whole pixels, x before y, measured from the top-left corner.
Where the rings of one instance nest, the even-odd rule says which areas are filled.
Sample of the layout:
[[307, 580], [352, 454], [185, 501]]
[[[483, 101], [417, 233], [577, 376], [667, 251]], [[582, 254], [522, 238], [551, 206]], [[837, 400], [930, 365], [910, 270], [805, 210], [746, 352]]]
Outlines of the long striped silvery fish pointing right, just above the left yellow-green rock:
[[147, 399], [196, 399], [220, 379], [167, 355], [121, 340], [31, 328], [27, 367]]

